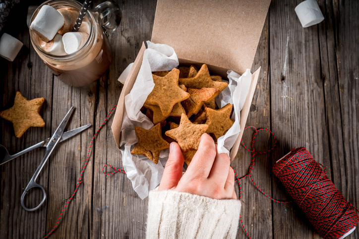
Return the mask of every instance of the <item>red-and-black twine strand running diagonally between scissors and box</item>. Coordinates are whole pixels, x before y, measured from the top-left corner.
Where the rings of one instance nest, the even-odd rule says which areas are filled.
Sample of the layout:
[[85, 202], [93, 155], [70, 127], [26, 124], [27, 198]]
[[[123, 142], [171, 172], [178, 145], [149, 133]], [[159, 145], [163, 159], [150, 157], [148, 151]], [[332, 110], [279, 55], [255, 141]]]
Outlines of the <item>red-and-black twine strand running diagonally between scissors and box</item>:
[[[92, 144], [93, 144], [93, 142], [94, 142], [94, 140], [95, 140], [97, 134], [98, 134], [99, 131], [101, 130], [101, 128], [106, 124], [107, 120], [109, 119], [109, 117], [110, 117], [112, 111], [116, 108], [116, 106], [117, 106], [117, 104], [110, 110], [110, 112], [109, 112], [109, 114], [107, 115], [106, 119], [104, 120], [104, 122], [102, 122], [102, 124], [100, 125], [99, 129], [96, 131], [94, 137], [92, 137], [92, 140], [91, 140], [91, 142], [90, 142], [89, 149], [88, 149], [88, 151], [87, 151], [86, 162], [85, 162], [84, 166], [82, 167], [82, 170], [81, 170], [81, 173], [80, 173], [80, 177], [79, 177], [78, 180], [77, 180], [77, 185], [76, 185], [75, 191], [73, 191], [72, 195], [69, 197], [69, 199], [68, 199], [67, 202], [65, 203], [65, 206], [64, 206], [63, 209], [61, 210], [60, 217], [59, 217], [58, 221], [56, 222], [54, 228], [53, 228], [44, 238], [50, 237], [50, 235], [55, 231], [55, 229], [57, 228], [57, 226], [59, 226], [59, 224], [60, 224], [60, 219], [61, 219], [63, 213], [65, 212], [65, 210], [66, 210], [68, 204], [70, 203], [70, 201], [72, 200], [72, 198], [75, 196], [75, 194], [76, 194], [76, 192], [77, 192], [77, 190], [78, 190], [80, 184], [82, 183], [82, 181], [81, 181], [82, 175], [83, 175], [83, 173], [85, 172], [86, 166], [87, 166], [87, 164], [88, 164], [88, 162], [89, 162], [89, 160], [90, 160], [90, 152], [91, 152], [91, 149], [92, 149]], [[44, 238], [43, 238], [43, 239], [44, 239]]]

